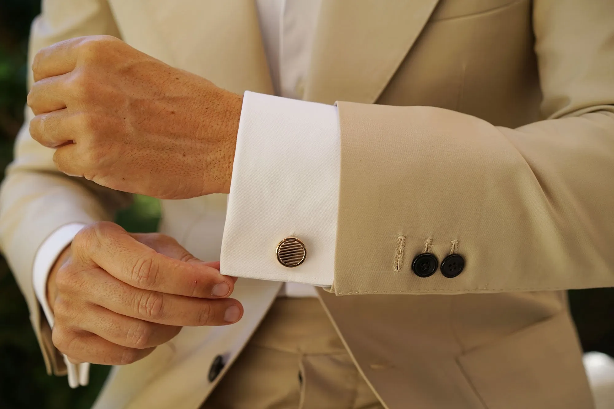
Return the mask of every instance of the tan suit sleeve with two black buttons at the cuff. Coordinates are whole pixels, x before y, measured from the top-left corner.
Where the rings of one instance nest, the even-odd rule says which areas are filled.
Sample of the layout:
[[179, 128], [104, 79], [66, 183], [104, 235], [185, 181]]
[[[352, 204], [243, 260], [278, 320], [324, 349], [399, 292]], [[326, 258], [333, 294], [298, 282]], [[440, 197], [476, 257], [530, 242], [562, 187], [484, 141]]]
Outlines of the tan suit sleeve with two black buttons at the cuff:
[[[338, 103], [336, 294], [614, 286], [614, 2], [535, 0], [534, 32], [540, 122]], [[414, 275], [426, 247], [464, 271]]]

